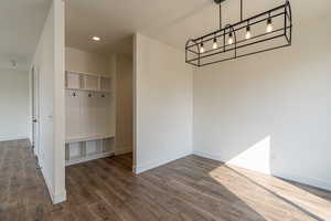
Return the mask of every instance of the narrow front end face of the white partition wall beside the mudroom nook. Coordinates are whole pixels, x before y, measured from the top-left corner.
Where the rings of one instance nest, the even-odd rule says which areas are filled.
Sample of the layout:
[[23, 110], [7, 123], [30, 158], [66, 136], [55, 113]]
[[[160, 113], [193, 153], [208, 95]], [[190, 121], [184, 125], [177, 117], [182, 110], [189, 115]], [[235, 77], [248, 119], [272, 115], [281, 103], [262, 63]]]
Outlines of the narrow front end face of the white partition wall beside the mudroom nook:
[[65, 3], [54, 1], [54, 197], [66, 200], [65, 190]]

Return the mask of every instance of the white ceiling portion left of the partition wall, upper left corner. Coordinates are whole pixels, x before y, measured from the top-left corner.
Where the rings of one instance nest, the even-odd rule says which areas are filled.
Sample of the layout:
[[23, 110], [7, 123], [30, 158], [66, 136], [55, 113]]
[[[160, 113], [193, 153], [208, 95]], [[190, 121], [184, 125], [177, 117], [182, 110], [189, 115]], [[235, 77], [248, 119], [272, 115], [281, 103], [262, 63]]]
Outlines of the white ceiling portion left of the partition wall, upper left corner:
[[11, 61], [26, 70], [45, 21], [50, 0], [0, 1], [0, 69]]

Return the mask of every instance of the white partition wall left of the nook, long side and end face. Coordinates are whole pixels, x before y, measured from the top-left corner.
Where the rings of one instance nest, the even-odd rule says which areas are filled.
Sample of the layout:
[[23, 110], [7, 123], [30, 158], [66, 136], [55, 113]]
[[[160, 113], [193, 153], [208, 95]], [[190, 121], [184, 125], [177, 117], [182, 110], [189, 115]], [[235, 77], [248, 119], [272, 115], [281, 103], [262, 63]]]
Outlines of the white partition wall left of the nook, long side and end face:
[[32, 66], [40, 73], [42, 172], [54, 203], [66, 199], [64, 109], [64, 2], [52, 2]]

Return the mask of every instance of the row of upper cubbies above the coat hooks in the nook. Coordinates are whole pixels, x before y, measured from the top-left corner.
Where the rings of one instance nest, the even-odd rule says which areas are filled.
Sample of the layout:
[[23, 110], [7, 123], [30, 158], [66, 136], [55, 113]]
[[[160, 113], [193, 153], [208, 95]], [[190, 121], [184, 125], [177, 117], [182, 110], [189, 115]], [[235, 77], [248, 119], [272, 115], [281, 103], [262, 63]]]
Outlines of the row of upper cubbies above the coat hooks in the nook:
[[109, 93], [111, 91], [111, 77], [108, 75], [66, 71], [65, 88]]

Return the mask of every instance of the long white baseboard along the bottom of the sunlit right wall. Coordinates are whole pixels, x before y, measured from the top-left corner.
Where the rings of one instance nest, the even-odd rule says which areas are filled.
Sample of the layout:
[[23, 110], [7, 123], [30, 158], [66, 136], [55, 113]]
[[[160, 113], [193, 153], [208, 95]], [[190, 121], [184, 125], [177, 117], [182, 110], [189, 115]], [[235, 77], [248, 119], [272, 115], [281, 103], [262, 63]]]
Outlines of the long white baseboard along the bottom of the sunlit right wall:
[[[232, 164], [222, 161], [221, 156], [217, 156], [217, 155], [211, 155], [211, 154], [199, 151], [199, 150], [193, 150], [193, 155], [204, 157], [207, 159], [213, 159], [213, 160], [226, 164], [226, 165], [232, 165]], [[237, 165], [233, 165], [233, 166], [242, 167], [242, 166], [237, 166]], [[245, 167], [242, 167], [242, 168], [245, 168]], [[250, 168], [245, 168], [245, 169], [250, 169]], [[257, 170], [254, 170], [254, 171], [257, 171]], [[257, 171], [257, 172], [265, 173], [263, 171]], [[284, 172], [271, 172], [271, 173], [267, 173], [267, 175], [331, 191], [331, 182], [320, 180], [317, 178], [301, 177], [301, 176], [284, 173]]]

